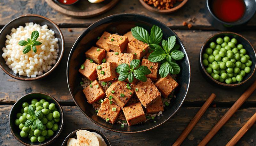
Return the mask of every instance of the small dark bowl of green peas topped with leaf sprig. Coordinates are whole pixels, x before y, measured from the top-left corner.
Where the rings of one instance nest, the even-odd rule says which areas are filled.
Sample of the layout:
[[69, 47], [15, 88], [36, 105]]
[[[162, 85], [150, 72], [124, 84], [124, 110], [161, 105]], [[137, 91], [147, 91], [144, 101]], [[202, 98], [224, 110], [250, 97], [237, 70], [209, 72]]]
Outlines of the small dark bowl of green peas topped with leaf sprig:
[[58, 101], [44, 93], [22, 96], [9, 115], [12, 135], [26, 146], [52, 143], [62, 131], [63, 110]]

